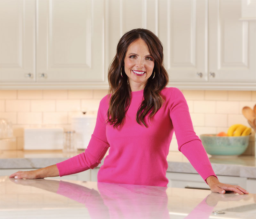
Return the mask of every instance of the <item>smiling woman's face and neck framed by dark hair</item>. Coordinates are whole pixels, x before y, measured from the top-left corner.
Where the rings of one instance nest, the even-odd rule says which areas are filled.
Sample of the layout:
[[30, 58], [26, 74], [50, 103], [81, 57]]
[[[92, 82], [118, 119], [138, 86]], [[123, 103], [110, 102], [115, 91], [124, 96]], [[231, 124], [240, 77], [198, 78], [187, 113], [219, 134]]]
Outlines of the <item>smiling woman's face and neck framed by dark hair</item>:
[[124, 71], [132, 91], [143, 90], [154, 69], [155, 60], [142, 39], [132, 42], [124, 58]]

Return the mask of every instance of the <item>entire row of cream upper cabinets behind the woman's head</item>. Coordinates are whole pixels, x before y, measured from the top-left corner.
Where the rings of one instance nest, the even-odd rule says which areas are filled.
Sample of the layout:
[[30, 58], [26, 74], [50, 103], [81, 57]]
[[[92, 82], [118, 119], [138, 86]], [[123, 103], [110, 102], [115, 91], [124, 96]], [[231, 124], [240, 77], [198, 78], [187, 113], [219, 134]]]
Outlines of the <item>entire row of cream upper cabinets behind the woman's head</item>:
[[169, 86], [256, 90], [255, 1], [0, 0], [0, 89], [107, 89], [120, 37], [147, 28]]

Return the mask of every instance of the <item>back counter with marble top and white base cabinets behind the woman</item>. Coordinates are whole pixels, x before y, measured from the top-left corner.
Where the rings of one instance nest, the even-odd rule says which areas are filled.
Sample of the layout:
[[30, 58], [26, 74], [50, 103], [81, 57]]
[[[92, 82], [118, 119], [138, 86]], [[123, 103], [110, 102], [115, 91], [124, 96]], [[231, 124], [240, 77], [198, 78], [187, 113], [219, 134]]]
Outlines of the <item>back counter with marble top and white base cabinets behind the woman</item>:
[[[78, 153], [83, 152], [82, 150]], [[0, 176], [10, 175], [18, 170], [33, 170], [49, 166], [68, 159], [76, 154], [65, 154], [62, 151], [0, 151]], [[256, 193], [256, 159], [254, 156], [209, 157], [212, 168], [223, 183], [236, 184], [250, 193]], [[180, 152], [170, 152], [167, 156], [168, 187], [209, 188], [197, 174], [188, 159]], [[69, 180], [97, 181], [97, 173], [104, 162], [93, 170], [61, 177]]]

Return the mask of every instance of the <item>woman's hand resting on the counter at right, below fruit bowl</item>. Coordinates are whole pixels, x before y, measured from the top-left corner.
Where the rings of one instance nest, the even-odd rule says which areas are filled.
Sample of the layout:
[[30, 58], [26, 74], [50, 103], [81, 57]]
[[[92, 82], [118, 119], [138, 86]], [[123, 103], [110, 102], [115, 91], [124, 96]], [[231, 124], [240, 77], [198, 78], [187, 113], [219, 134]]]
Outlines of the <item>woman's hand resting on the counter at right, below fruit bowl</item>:
[[210, 186], [211, 191], [214, 193], [224, 194], [226, 193], [226, 191], [231, 191], [238, 194], [249, 194], [248, 191], [246, 191], [244, 188], [242, 188], [239, 185], [229, 185], [229, 184], [220, 183], [220, 181], [214, 176], [208, 177], [206, 179], [206, 182]]

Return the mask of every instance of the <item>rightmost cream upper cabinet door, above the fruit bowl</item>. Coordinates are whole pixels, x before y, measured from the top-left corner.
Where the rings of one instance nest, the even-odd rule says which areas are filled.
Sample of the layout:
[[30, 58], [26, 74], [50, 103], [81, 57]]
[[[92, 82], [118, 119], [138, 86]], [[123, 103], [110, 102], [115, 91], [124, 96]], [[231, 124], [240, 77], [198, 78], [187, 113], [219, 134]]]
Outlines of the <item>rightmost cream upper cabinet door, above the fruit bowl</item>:
[[256, 26], [240, 17], [241, 1], [209, 1], [209, 81], [256, 81]]

